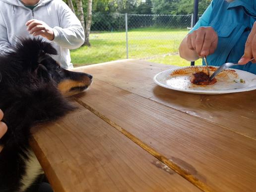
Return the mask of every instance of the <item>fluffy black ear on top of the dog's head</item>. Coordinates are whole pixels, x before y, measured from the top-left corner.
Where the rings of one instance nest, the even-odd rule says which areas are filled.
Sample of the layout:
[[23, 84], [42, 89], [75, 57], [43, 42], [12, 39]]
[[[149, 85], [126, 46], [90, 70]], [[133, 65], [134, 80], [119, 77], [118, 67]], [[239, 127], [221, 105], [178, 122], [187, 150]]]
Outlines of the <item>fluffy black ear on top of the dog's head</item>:
[[13, 48], [16, 57], [22, 59], [24, 68], [34, 71], [46, 55], [57, 55], [57, 50], [42, 38], [21, 39]]

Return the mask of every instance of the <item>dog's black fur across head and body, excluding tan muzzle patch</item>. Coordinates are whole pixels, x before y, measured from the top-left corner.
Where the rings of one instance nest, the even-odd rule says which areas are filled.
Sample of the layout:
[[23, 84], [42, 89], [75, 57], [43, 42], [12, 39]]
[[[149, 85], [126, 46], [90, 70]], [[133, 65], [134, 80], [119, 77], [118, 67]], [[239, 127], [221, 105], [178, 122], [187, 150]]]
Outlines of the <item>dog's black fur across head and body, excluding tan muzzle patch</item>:
[[23, 39], [12, 50], [0, 55], [0, 109], [8, 127], [0, 138], [0, 192], [20, 192], [23, 186], [30, 128], [73, 109], [58, 85], [68, 79], [79, 82], [67, 89], [72, 95], [86, 89], [92, 79], [89, 74], [60, 67], [49, 56], [57, 51], [42, 39]]

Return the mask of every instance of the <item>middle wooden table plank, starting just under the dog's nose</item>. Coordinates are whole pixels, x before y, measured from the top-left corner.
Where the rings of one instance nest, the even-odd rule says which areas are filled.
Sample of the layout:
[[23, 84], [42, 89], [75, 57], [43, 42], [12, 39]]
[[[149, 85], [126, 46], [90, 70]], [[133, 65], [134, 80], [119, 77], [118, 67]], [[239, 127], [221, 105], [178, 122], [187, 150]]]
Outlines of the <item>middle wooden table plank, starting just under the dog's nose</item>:
[[130, 134], [137, 144], [202, 190], [256, 189], [254, 139], [97, 78], [96, 75], [90, 91], [77, 97], [77, 101], [124, 134]]

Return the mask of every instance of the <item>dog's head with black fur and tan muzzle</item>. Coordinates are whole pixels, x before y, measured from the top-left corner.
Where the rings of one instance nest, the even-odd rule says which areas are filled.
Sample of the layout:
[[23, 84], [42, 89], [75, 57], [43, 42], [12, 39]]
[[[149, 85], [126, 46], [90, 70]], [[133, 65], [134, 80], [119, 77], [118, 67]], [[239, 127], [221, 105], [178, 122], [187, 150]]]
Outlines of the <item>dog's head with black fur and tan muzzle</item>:
[[[1, 72], [6, 72], [10, 80], [22, 78], [19, 80], [30, 81], [29, 84], [31, 81], [34, 84], [53, 83], [64, 96], [85, 91], [91, 85], [92, 75], [64, 69], [50, 55], [57, 55], [51, 43], [41, 38], [20, 40], [13, 51], [1, 56], [0, 62], [6, 63], [1, 64]], [[10, 67], [12, 67], [12, 74], [10, 74]]]

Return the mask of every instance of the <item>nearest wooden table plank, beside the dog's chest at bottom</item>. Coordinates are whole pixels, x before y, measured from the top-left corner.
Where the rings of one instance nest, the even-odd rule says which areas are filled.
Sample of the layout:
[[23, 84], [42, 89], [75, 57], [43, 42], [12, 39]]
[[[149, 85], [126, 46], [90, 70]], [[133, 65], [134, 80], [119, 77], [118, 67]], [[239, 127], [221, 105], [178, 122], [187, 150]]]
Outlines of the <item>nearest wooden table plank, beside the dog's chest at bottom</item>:
[[55, 192], [200, 191], [81, 106], [32, 132], [32, 148]]

